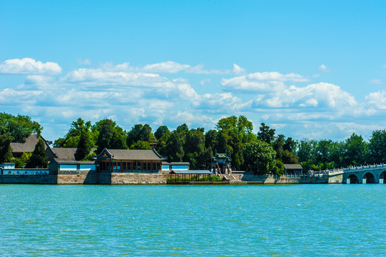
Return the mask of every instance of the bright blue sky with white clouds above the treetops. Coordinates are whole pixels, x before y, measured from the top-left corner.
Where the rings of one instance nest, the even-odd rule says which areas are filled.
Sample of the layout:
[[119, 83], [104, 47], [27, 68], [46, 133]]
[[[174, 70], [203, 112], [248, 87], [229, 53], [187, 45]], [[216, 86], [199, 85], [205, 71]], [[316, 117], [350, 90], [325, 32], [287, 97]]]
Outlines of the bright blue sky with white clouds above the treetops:
[[386, 1], [0, 1], [0, 111], [285, 136], [386, 128]]

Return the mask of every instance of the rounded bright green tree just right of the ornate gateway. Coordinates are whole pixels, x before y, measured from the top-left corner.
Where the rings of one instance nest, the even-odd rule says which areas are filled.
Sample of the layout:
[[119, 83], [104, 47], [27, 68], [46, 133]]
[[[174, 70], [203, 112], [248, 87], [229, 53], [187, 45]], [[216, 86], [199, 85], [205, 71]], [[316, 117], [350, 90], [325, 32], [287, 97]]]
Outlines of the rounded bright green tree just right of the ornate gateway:
[[276, 152], [265, 141], [256, 139], [247, 143], [243, 149], [245, 164], [254, 173], [273, 171]]

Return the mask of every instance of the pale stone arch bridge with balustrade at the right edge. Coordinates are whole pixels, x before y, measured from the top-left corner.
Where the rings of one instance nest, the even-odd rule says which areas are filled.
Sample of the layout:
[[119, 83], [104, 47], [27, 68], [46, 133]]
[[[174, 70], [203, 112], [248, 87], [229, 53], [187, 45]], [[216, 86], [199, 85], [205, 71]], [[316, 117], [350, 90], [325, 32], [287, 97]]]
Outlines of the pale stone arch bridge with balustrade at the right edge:
[[386, 183], [386, 164], [335, 168], [315, 176], [327, 177], [328, 183]]

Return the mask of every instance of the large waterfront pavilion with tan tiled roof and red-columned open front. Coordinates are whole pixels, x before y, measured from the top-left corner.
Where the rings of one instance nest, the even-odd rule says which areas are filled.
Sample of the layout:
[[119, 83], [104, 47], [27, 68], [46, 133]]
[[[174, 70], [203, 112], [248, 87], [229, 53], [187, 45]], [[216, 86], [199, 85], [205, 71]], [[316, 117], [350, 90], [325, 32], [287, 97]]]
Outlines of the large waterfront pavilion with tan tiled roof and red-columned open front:
[[166, 158], [153, 150], [106, 149], [96, 157], [97, 172], [158, 173]]

